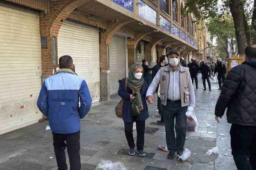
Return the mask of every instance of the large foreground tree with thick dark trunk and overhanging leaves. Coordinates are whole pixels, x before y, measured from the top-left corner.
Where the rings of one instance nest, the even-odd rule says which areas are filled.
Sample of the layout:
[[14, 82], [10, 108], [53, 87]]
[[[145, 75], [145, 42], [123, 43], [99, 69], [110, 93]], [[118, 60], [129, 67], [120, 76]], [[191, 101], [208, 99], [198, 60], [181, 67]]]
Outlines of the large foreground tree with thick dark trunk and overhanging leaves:
[[[244, 54], [247, 45], [256, 43], [256, 0], [187, 0], [184, 10], [193, 12], [198, 20], [221, 18], [224, 14], [231, 13], [238, 53]], [[228, 9], [228, 10], [227, 10]], [[252, 21], [249, 23], [249, 21]]]

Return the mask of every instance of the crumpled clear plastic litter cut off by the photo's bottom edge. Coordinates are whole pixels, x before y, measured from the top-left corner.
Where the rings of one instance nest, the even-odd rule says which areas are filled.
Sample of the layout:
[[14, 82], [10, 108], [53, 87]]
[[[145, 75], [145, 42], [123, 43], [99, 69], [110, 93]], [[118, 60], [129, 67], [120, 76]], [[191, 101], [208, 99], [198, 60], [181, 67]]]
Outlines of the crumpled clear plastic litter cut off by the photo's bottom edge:
[[102, 160], [95, 170], [127, 170], [122, 162], [114, 162]]

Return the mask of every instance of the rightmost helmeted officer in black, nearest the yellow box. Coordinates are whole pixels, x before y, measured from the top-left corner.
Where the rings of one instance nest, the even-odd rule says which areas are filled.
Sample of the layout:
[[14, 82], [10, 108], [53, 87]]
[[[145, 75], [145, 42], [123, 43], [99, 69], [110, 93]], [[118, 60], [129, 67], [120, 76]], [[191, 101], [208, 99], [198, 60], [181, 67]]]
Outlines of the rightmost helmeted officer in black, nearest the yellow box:
[[215, 66], [215, 69], [214, 69], [214, 76], [215, 76], [216, 72], [218, 73], [218, 75], [217, 75], [218, 83], [219, 83], [218, 90], [221, 90], [222, 83], [224, 83], [224, 81], [226, 79], [225, 74], [227, 73], [226, 65], [224, 63], [222, 63], [221, 58], [217, 58], [217, 65]]

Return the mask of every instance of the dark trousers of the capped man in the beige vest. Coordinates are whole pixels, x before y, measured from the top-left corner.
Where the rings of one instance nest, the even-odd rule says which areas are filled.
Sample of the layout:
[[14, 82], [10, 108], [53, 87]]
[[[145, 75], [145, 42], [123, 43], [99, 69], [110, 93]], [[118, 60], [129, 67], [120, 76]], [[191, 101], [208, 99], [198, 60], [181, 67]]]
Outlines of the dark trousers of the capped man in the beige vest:
[[[165, 123], [165, 132], [166, 132], [166, 143], [168, 150], [172, 152], [182, 152], [185, 139], [186, 139], [186, 129], [187, 129], [187, 117], [186, 111], [187, 106], [181, 107], [181, 101], [171, 102], [167, 100], [166, 106], [163, 105], [163, 116]], [[176, 138], [174, 133], [174, 118], [175, 118], [175, 131]]]

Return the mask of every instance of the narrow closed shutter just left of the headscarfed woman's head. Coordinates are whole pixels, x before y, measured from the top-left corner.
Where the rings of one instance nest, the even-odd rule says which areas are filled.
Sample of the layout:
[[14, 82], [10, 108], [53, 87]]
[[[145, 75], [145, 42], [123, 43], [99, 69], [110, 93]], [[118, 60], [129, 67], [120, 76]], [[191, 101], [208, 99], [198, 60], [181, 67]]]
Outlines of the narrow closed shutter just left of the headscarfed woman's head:
[[125, 38], [113, 36], [109, 44], [110, 94], [118, 92], [119, 83], [125, 77]]

